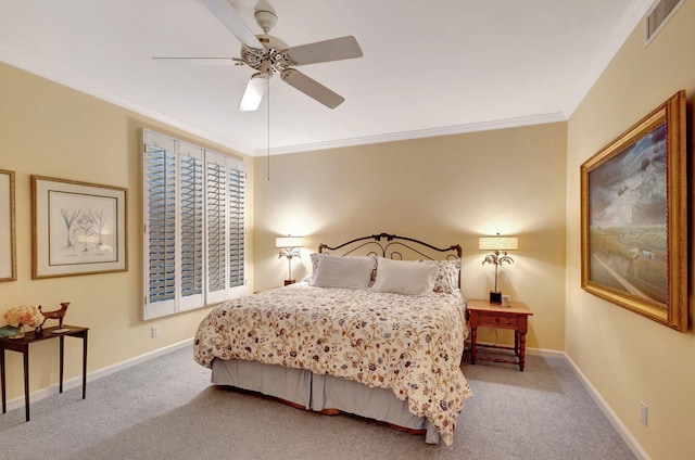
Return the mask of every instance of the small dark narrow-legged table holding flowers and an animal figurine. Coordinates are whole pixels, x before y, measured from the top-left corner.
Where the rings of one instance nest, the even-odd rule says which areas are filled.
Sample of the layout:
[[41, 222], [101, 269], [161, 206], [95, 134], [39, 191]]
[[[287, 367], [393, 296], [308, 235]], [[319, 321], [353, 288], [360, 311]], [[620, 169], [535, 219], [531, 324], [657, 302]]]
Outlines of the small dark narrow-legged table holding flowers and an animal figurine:
[[[61, 331], [61, 332], [55, 332]], [[8, 411], [7, 394], [5, 394], [5, 372], [4, 372], [4, 350], [18, 352], [24, 355], [24, 407], [26, 412], [26, 421], [29, 421], [29, 344], [47, 341], [50, 338], [60, 338], [60, 393], [63, 393], [63, 354], [65, 336], [78, 337], [83, 340], [83, 399], [87, 396], [87, 332], [89, 328], [79, 325], [65, 325], [59, 330], [59, 327], [47, 328], [42, 334], [37, 336], [36, 332], [27, 332], [23, 338], [0, 337], [0, 376], [2, 379], [2, 413]]]

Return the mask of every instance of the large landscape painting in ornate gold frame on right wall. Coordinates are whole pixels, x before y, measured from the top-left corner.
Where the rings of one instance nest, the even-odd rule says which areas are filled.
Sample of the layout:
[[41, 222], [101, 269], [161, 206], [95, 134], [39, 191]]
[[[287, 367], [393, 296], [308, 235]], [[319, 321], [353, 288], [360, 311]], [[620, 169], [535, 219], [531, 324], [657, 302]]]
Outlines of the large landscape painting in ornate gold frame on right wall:
[[581, 165], [582, 289], [687, 330], [685, 91]]

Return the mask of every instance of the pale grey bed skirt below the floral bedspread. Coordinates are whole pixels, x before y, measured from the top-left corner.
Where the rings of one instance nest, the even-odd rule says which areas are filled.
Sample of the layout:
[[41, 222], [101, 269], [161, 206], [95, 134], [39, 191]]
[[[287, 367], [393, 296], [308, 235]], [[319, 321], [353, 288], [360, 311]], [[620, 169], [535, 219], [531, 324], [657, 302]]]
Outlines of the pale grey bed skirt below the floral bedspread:
[[338, 409], [410, 430], [427, 430], [425, 442], [439, 443], [439, 432], [424, 417], [408, 411], [407, 401], [384, 388], [302, 369], [254, 361], [213, 361], [212, 382], [288, 400], [306, 410]]

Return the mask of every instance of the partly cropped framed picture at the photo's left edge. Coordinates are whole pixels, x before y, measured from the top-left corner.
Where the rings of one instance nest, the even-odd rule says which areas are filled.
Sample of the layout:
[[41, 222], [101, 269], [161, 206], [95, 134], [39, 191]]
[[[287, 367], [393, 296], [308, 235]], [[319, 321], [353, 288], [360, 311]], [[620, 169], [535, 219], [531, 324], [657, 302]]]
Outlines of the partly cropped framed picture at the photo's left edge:
[[0, 169], [0, 281], [17, 279], [14, 171]]

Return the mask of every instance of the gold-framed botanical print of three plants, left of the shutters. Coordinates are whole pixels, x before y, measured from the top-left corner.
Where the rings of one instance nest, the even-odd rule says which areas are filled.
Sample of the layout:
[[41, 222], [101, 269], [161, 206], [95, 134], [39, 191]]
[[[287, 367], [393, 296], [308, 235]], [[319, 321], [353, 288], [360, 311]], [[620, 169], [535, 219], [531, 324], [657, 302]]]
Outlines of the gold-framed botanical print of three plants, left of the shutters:
[[31, 278], [128, 269], [128, 191], [31, 176]]

